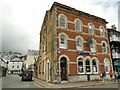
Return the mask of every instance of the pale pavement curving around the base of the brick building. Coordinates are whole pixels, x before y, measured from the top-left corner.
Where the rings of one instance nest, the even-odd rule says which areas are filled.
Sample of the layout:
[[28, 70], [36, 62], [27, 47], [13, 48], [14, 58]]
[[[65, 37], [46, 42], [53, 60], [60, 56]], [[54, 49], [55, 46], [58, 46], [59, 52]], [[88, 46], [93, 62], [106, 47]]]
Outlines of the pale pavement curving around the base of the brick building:
[[77, 88], [77, 87], [89, 87], [89, 86], [97, 86], [97, 85], [105, 85], [105, 84], [116, 84], [117, 82], [114, 81], [106, 81], [106, 82], [100, 82], [100, 81], [80, 81], [80, 82], [62, 82], [60, 84], [52, 84], [48, 83], [46, 81], [33, 78], [34, 82], [40, 85], [41, 87], [45, 88]]

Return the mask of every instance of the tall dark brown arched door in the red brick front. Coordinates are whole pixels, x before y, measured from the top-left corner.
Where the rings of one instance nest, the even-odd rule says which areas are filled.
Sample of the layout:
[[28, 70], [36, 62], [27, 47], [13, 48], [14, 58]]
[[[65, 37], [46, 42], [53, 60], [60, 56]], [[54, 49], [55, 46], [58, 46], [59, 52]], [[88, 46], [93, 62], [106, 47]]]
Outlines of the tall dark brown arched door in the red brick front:
[[65, 57], [62, 57], [60, 60], [60, 68], [61, 68], [61, 79], [67, 80], [67, 60]]

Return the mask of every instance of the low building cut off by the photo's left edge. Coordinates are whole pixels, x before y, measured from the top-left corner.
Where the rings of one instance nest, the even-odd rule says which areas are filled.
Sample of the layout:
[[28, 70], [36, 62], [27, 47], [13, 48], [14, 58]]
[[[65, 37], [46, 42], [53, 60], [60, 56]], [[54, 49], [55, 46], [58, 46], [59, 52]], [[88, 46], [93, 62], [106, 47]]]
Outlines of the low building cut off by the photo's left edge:
[[7, 62], [5, 62], [2, 58], [0, 58], [0, 77], [6, 76], [7, 69], [8, 69]]

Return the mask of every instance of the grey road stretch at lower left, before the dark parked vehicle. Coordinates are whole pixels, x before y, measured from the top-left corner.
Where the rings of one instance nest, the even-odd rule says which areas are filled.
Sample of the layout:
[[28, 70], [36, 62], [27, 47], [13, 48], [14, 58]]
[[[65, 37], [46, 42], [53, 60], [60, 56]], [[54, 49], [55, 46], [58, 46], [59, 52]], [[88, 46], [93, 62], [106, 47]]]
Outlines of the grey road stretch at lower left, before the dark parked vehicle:
[[42, 88], [34, 81], [21, 81], [19, 75], [8, 75], [2, 77], [2, 88]]

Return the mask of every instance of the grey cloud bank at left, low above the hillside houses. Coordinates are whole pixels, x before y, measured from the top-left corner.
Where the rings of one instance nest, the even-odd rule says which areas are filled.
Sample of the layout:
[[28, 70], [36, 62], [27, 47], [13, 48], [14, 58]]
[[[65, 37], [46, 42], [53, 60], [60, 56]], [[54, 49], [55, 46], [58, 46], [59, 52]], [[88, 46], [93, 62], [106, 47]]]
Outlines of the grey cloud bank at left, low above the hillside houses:
[[2, 26], [2, 50], [26, 53], [26, 49], [32, 43], [30, 42], [30, 35], [21, 27], [15, 26], [5, 20]]

